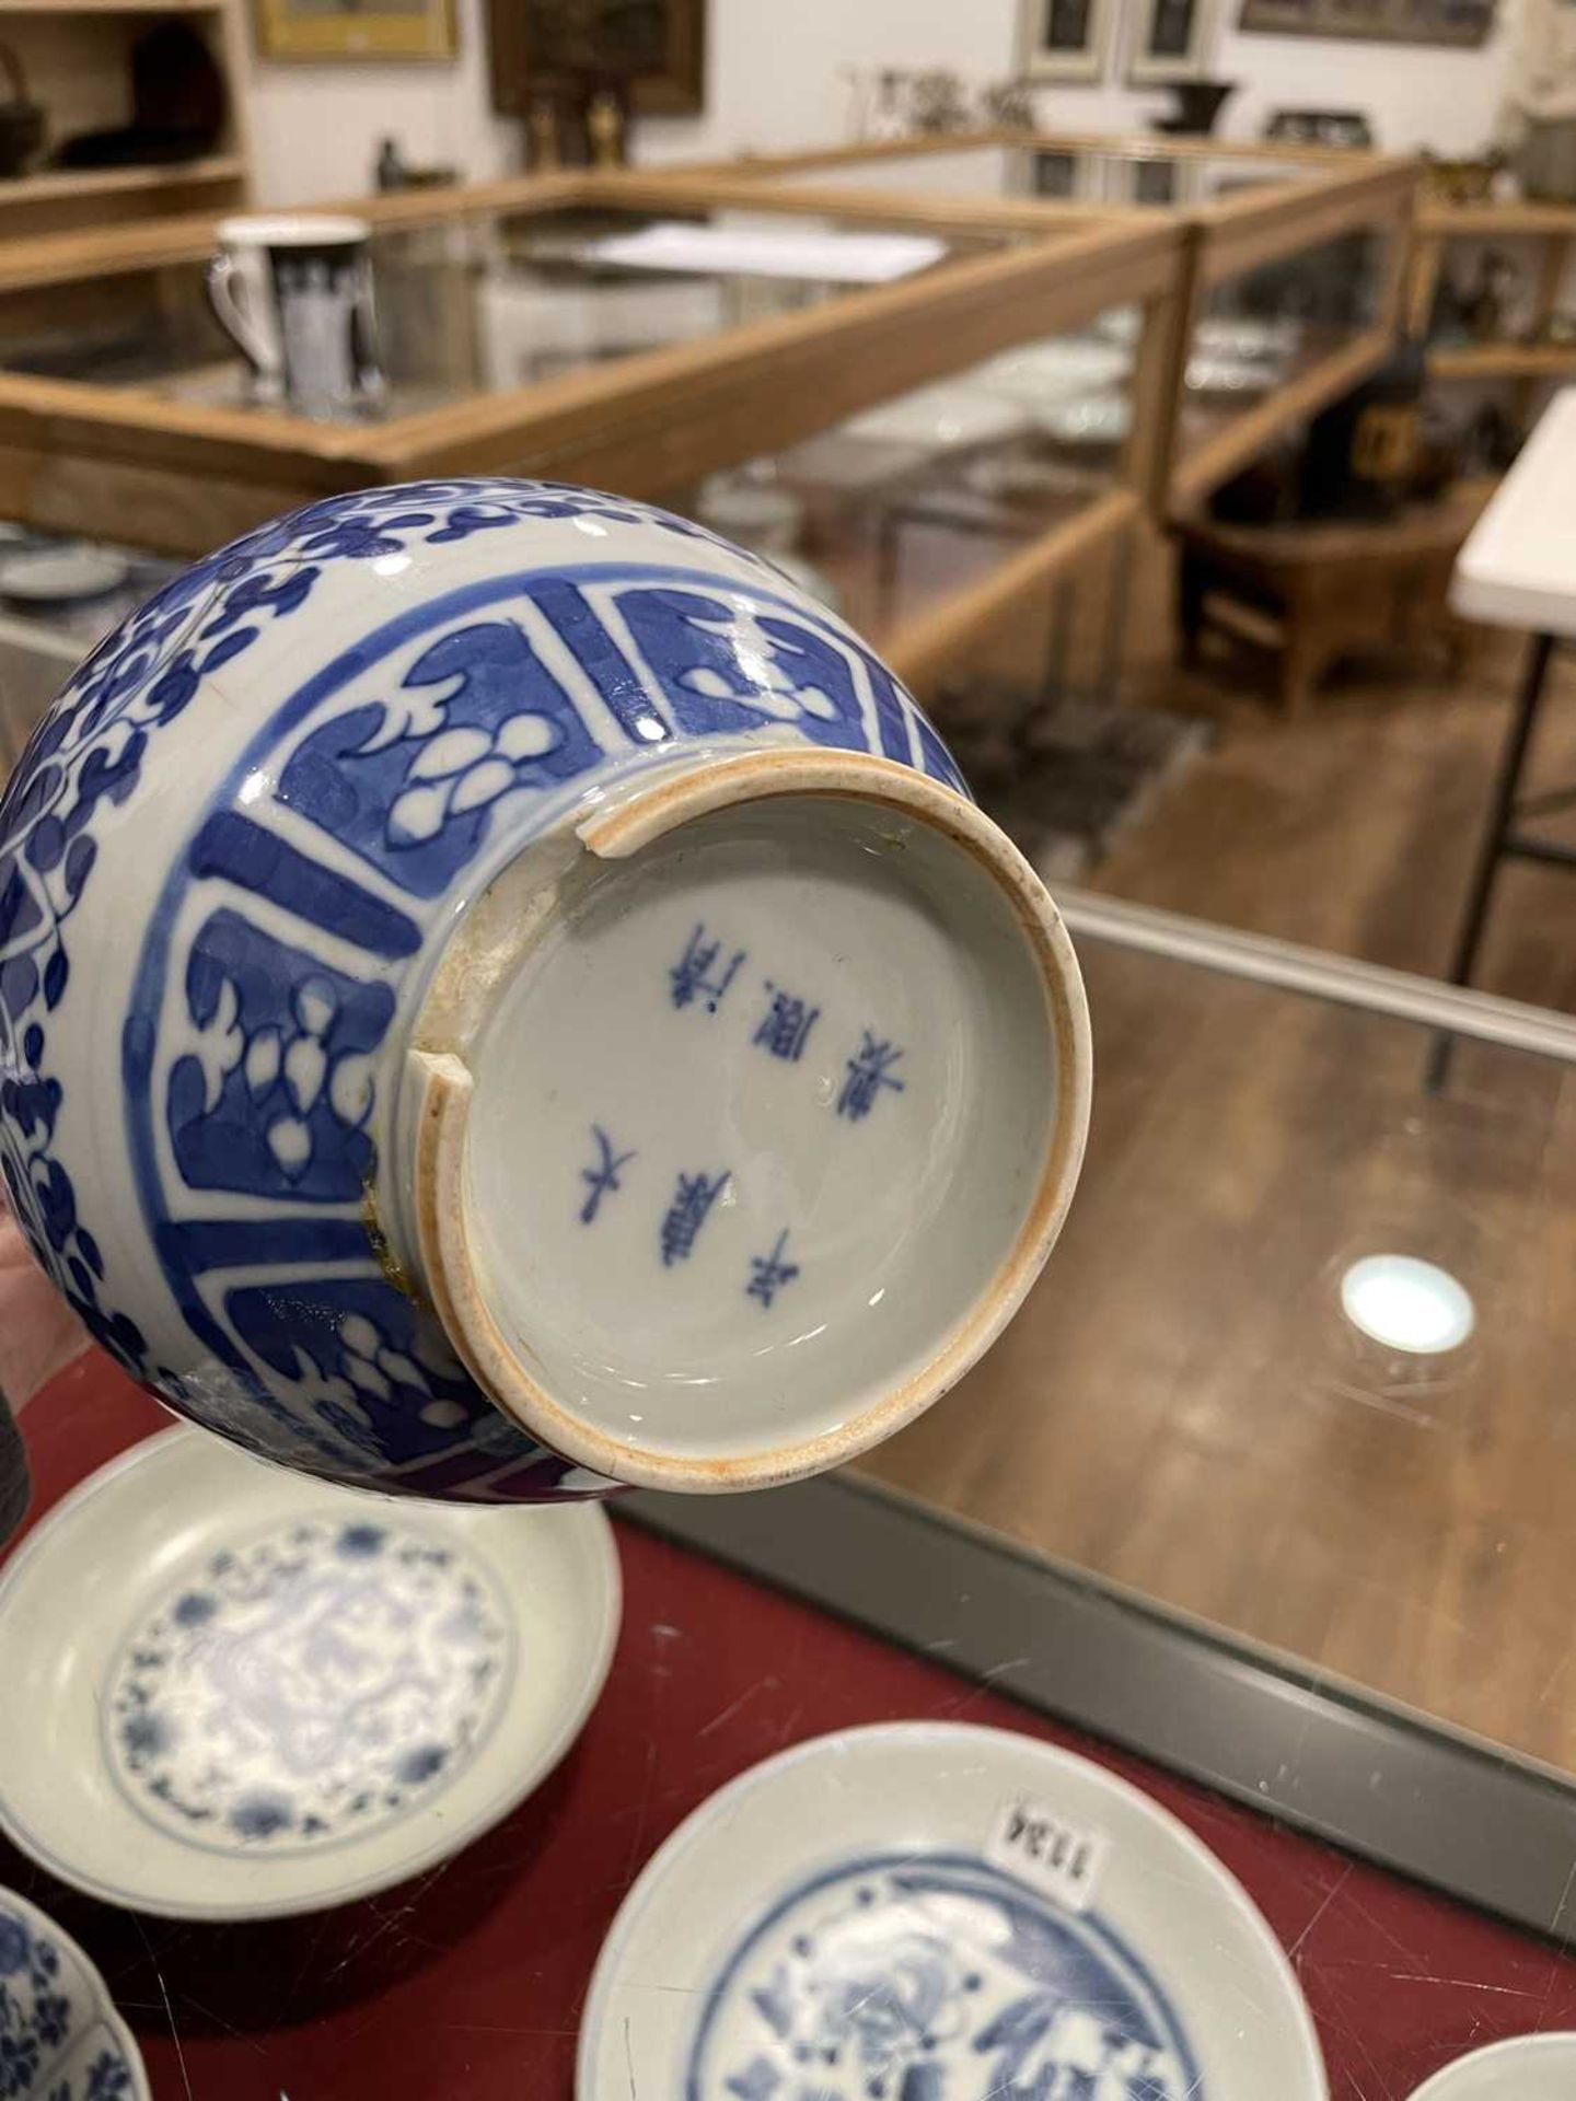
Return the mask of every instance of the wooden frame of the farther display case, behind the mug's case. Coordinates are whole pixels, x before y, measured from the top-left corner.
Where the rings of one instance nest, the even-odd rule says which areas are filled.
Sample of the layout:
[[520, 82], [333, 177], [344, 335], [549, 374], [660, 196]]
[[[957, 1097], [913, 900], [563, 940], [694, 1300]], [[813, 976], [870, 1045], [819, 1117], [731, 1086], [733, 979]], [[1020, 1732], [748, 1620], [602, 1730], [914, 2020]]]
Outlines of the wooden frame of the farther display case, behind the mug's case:
[[[874, 204], [876, 191], [859, 189], [862, 170], [891, 160], [920, 162], [927, 155], [971, 153], [988, 147], [1025, 147], [1044, 153], [1120, 153], [1131, 160], [1240, 160], [1265, 166], [1303, 166], [1305, 181], [1286, 185], [1254, 185], [1238, 197], [1210, 204], [1110, 204], [1061, 197], [967, 197], [960, 193], [912, 191], [883, 193], [889, 216], [912, 223], [946, 221], [975, 225], [1000, 233], [1032, 233], [1046, 225], [1091, 219], [1107, 225], [1164, 221], [1185, 244], [1185, 279], [1179, 330], [1175, 338], [1177, 366], [1168, 382], [1166, 422], [1158, 448], [1149, 502], [1158, 517], [1191, 511], [1210, 490], [1246, 466], [1282, 431], [1315, 416], [1357, 380], [1366, 378], [1389, 355], [1402, 321], [1412, 219], [1418, 193], [1421, 164], [1381, 153], [1357, 153], [1345, 147], [1282, 145], [1278, 141], [1238, 143], [1227, 139], [1120, 137], [1099, 132], [1025, 132], [1011, 128], [948, 132], [927, 139], [893, 139], [870, 145], [843, 145], [822, 151], [750, 155], [727, 164], [712, 162], [708, 174], [735, 185], [735, 202], [746, 193], [756, 200], [790, 195], [801, 210], [832, 206], [849, 210]], [[775, 189], [784, 176], [805, 176], [828, 170], [836, 183], [794, 183]], [[693, 179], [693, 170], [675, 176]], [[662, 179], [649, 179], [654, 189]], [[1288, 261], [1309, 248], [1336, 240], [1341, 233], [1389, 233], [1385, 273], [1378, 286], [1374, 319], [1362, 334], [1318, 363], [1299, 372], [1263, 401], [1233, 416], [1204, 441], [1179, 441], [1181, 376], [1194, 321], [1204, 300], [1231, 277], [1265, 263]]]

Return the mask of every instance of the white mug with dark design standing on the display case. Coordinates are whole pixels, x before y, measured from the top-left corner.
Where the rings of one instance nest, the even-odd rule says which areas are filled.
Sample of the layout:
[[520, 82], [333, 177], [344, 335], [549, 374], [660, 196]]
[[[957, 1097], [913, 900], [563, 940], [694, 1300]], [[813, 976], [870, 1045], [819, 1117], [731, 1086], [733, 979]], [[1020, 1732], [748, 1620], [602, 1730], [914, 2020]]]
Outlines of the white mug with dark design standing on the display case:
[[225, 219], [208, 298], [261, 401], [334, 414], [382, 395], [364, 219]]

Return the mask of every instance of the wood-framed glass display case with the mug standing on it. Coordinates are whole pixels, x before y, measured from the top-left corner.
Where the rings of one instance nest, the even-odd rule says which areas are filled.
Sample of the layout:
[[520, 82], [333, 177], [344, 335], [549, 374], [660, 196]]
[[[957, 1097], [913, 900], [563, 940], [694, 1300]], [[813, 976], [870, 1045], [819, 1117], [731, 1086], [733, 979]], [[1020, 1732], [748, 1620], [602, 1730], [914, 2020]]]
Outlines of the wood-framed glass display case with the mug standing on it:
[[210, 229], [0, 254], [0, 506], [206, 553], [452, 473], [656, 498], [759, 544], [925, 683], [1133, 521], [1181, 282], [1166, 223], [885, 225], [618, 176], [374, 200], [385, 387], [254, 399]]

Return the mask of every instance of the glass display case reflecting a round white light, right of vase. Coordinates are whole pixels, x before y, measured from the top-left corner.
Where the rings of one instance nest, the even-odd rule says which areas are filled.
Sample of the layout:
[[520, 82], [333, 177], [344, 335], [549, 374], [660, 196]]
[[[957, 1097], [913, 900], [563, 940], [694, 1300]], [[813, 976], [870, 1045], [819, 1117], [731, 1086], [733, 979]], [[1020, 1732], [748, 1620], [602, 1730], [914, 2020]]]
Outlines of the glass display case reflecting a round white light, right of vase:
[[1101, 1065], [1023, 1313], [857, 1479], [658, 1521], [1563, 1933], [1576, 1021], [1059, 906]]

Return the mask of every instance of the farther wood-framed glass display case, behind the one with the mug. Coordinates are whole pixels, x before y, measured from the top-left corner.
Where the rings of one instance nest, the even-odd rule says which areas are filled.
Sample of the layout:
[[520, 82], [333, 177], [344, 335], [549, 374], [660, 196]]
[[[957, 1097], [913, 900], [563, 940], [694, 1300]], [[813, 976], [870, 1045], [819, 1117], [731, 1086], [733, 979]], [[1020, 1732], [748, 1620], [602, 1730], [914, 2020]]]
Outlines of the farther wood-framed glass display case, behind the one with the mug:
[[1282, 429], [1383, 359], [1399, 313], [1410, 162], [1212, 139], [908, 139], [733, 164], [803, 202], [853, 187], [950, 227], [1166, 216], [1187, 229], [1168, 443], [1156, 500], [1196, 504]]

